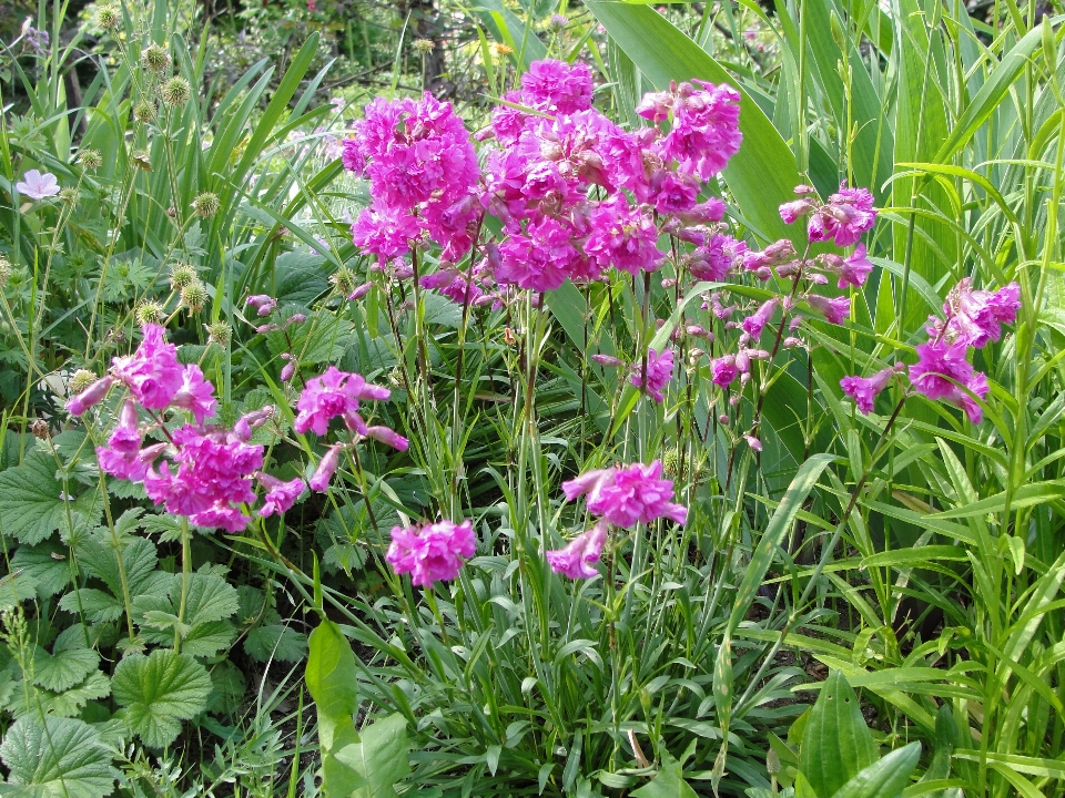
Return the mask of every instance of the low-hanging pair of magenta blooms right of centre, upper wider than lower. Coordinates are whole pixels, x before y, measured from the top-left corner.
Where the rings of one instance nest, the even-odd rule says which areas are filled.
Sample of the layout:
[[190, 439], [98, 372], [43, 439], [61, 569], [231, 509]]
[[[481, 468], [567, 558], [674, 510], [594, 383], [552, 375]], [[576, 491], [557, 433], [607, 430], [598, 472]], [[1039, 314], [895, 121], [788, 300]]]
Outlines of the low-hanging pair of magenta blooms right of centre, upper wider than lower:
[[662, 463], [633, 463], [586, 471], [562, 483], [567, 501], [586, 497], [588, 512], [598, 515], [591, 529], [581, 532], [562, 549], [548, 551], [551, 570], [569, 579], [589, 579], [596, 575], [609, 538], [610, 526], [632, 528], [669, 519], [679, 524], [688, 521], [688, 508], [672, 501], [673, 483], [661, 479]]

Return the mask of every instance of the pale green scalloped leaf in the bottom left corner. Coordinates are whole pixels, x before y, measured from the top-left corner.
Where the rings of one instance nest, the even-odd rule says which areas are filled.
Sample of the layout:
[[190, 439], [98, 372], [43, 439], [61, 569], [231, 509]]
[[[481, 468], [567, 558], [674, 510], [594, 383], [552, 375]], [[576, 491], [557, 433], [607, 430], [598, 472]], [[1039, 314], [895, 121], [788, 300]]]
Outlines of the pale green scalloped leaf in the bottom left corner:
[[11, 725], [0, 745], [10, 784], [39, 788], [45, 798], [103, 798], [118, 774], [87, 723], [32, 715]]

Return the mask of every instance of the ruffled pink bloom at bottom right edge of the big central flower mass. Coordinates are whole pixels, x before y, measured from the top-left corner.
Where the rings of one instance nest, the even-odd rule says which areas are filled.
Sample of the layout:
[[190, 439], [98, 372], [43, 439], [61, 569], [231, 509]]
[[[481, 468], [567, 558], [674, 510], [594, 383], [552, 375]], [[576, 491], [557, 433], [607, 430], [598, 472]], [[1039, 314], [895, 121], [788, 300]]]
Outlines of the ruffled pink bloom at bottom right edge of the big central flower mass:
[[661, 265], [665, 255], [657, 244], [655, 219], [619, 196], [591, 214], [591, 234], [585, 252], [600, 270], [613, 266], [635, 275], [641, 269], [655, 272]]

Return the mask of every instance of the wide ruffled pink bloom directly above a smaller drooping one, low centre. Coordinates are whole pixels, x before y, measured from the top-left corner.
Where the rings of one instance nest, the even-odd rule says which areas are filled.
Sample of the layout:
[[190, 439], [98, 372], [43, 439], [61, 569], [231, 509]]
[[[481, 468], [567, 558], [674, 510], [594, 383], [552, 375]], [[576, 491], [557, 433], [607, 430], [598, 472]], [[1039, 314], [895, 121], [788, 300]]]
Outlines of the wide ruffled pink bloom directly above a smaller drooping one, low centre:
[[633, 463], [613, 472], [588, 497], [588, 512], [601, 515], [615, 526], [632, 526], [668, 518], [679, 524], [688, 520], [688, 509], [671, 501], [673, 483], [659, 479], [662, 463], [656, 460], [650, 466]]

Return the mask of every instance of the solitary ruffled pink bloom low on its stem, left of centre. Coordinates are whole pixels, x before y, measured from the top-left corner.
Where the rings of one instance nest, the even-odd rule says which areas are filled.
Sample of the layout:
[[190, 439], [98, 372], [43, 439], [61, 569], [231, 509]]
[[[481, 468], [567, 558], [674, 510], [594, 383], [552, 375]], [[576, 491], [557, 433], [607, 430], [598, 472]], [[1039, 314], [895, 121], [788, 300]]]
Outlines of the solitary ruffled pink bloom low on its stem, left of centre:
[[426, 526], [394, 526], [385, 560], [397, 575], [410, 574], [414, 585], [430, 585], [458, 576], [464, 559], [476, 553], [470, 521], [438, 521]]

